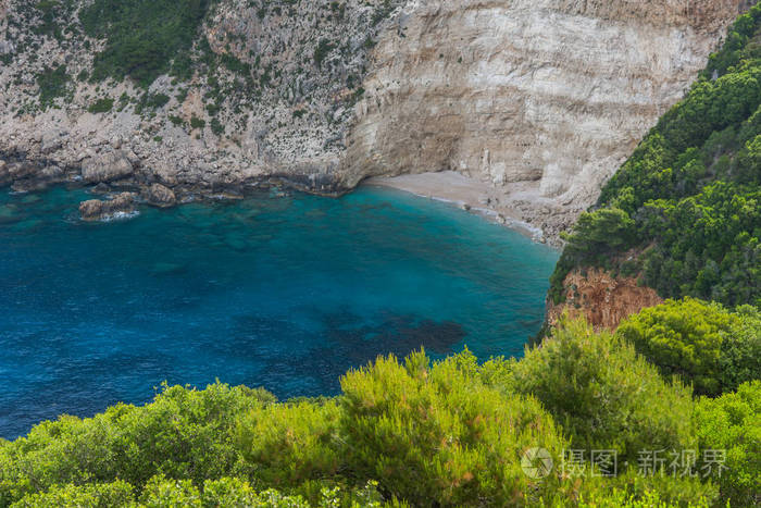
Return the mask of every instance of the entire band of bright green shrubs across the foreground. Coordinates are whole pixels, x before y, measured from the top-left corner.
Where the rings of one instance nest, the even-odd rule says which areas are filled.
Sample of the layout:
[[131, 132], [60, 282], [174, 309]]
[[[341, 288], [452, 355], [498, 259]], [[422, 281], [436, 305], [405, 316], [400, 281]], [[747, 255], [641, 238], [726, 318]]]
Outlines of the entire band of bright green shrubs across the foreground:
[[[286, 402], [164, 386], [145, 407], [43, 422], [0, 441], [0, 506], [725, 506], [759, 492], [760, 382], [694, 400], [582, 321], [520, 361], [416, 352], [341, 386]], [[700, 469], [714, 448], [728, 454], [721, 478]], [[578, 475], [570, 449], [586, 450]], [[608, 449], [610, 478], [589, 455]], [[641, 451], [656, 449], [697, 460], [688, 474], [670, 462], [643, 473]]]

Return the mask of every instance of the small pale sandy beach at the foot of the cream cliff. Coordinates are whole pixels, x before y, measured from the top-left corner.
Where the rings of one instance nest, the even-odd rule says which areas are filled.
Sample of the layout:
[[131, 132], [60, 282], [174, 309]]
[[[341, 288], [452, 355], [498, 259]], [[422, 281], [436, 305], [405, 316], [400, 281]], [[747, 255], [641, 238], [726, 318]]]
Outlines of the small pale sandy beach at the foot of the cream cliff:
[[456, 171], [400, 176], [373, 176], [362, 182], [361, 186], [391, 188], [422, 198], [452, 203], [462, 210], [509, 227], [537, 244], [558, 249], [558, 246], [547, 241], [540, 227], [523, 221], [517, 210], [504, 206], [492, 206], [492, 203], [498, 202], [491, 196], [495, 194], [494, 187]]

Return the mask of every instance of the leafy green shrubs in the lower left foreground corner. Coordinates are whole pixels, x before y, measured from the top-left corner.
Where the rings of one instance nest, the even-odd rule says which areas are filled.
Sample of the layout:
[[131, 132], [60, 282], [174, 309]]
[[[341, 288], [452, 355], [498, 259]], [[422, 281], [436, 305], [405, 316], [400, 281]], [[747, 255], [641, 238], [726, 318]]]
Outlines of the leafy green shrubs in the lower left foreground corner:
[[67, 483], [124, 480], [141, 490], [158, 473], [189, 479], [237, 475], [239, 416], [273, 401], [263, 392], [214, 384], [165, 387], [142, 408], [117, 405], [92, 419], [62, 417], [0, 446], [0, 506]]

